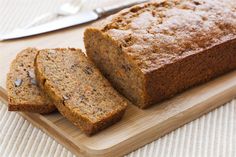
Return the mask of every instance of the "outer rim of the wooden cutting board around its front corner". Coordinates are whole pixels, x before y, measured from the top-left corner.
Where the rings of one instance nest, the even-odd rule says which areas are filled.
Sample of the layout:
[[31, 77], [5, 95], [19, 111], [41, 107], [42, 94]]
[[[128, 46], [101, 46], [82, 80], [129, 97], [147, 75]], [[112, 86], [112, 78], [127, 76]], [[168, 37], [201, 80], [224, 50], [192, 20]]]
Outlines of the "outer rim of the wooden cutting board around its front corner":
[[[192, 113], [188, 113], [187, 115], [179, 113], [167, 120], [167, 121], [171, 121], [173, 119], [176, 119], [176, 117], [177, 117], [176, 121], [179, 121], [181, 118], [178, 119], [178, 117], [179, 116], [181, 117], [181, 115], [184, 115], [184, 117], [187, 117], [187, 116], [190, 117], [190, 115], [192, 116], [190, 118], [189, 117], [185, 118], [186, 121], [182, 121], [182, 123], [180, 123], [179, 125], [172, 126], [172, 127], [171, 126], [163, 127], [162, 129], [160, 129], [161, 124], [155, 125], [153, 127], [150, 127], [149, 129], [147, 129], [145, 132], [140, 132], [139, 134], [133, 136], [129, 140], [122, 141], [121, 143], [117, 143], [116, 145], [113, 145], [109, 148], [100, 149], [100, 150], [96, 150], [96, 149], [89, 148], [89, 147], [83, 147], [82, 145], [79, 146], [77, 142], [73, 143], [72, 142], [73, 140], [66, 138], [67, 136], [65, 135], [65, 133], [63, 133], [63, 131], [60, 128], [57, 128], [56, 125], [54, 125], [52, 122], [48, 121], [44, 116], [42, 116], [40, 114], [23, 113], [23, 112], [20, 112], [20, 114], [24, 118], [29, 120], [31, 123], [33, 123], [36, 127], [40, 128], [42, 131], [47, 133], [49, 136], [53, 137], [56, 141], [58, 141], [59, 143], [64, 145], [67, 149], [69, 149], [70, 151], [72, 151], [76, 155], [104, 156], [104, 157], [111, 156], [111, 155], [122, 156], [122, 155], [125, 155], [137, 148], [140, 148], [141, 146], [143, 146], [147, 143], [150, 143], [151, 141], [154, 141], [155, 139], [169, 133], [170, 131], [173, 131], [176, 128], [179, 128], [180, 126], [182, 126], [182, 125], [204, 115], [205, 113], [208, 113], [211, 110], [221, 106], [222, 104], [229, 101], [230, 99], [235, 98], [235, 96], [236, 96], [235, 93], [236, 93], [236, 85], [232, 86], [231, 88], [227, 88], [224, 92], [216, 94], [211, 99], [207, 99], [206, 102], [201, 102], [200, 105], [196, 104], [194, 108], [189, 109], [189, 110], [194, 110], [195, 108], [198, 108], [202, 104], [204, 109], [201, 110], [201, 112], [195, 113], [195, 115]], [[6, 90], [3, 89], [2, 87], [0, 87], [0, 97], [2, 97], [1, 100], [4, 100], [4, 103], [7, 104]], [[211, 100], [211, 101], [208, 102], [209, 100]], [[205, 105], [206, 103], [208, 105]], [[209, 106], [210, 104], [214, 104], [214, 105]], [[189, 111], [185, 110], [183, 112], [189, 112]], [[184, 117], [182, 117], [182, 119], [184, 119]], [[167, 122], [167, 121], [165, 121], [165, 122]], [[42, 124], [44, 124], [44, 125], [42, 125]], [[50, 124], [53, 125], [53, 128], [49, 127]], [[158, 130], [158, 127], [159, 127], [159, 132], [161, 132], [163, 130], [162, 133], [156, 132], [156, 129]], [[149, 138], [146, 138], [147, 135]], [[130, 145], [134, 141], [137, 141], [137, 139], [142, 139], [142, 137], [145, 137], [145, 139], [141, 140], [142, 142], [136, 142], [136, 144], [131, 145], [129, 147], [129, 149], [123, 149], [124, 151], [122, 151], [122, 152], [120, 151], [121, 148], [124, 147], [124, 145]], [[116, 152], [116, 151], [118, 151], [118, 152]]]

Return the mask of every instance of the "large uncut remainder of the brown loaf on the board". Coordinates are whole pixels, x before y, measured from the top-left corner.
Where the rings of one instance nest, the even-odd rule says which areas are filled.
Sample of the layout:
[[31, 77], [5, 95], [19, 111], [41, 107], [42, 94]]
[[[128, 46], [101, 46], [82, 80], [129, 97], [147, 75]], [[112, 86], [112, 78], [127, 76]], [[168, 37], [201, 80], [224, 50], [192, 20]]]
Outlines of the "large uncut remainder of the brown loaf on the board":
[[141, 108], [236, 68], [234, 0], [150, 2], [86, 29], [89, 58]]

